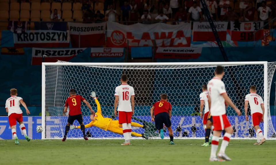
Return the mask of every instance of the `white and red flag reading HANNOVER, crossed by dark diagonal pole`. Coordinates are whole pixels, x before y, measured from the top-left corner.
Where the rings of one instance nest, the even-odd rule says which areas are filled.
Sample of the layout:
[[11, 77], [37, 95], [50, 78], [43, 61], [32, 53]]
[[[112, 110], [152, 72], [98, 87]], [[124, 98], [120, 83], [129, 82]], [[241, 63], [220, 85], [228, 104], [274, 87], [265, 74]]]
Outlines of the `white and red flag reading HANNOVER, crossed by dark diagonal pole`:
[[[216, 22], [215, 27], [221, 41], [226, 41], [228, 22]], [[193, 41], [216, 41], [209, 22], [193, 23]]]

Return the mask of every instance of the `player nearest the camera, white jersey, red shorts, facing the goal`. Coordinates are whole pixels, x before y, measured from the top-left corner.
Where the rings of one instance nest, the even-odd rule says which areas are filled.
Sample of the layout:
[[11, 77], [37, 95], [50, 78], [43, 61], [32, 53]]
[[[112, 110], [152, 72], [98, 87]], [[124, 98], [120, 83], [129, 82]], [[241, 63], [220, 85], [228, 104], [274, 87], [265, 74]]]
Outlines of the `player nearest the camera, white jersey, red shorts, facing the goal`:
[[[233, 104], [231, 99], [228, 97], [225, 91], [225, 85], [222, 82], [224, 76], [223, 66], [217, 66], [215, 70], [215, 77], [208, 82], [208, 100], [210, 113], [213, 119], [214, 133], [212, 137], [212, 147], [210, 161], [230, 161], [231, 159], [225, 154], [225, 149], [229, 143], [230, 137], [233, 133], [233, 128], [229, 123], [226, 116], [225, 102], [232, 107], [236, 113], [240, 116], [241, 112]], [[221, 148], [216, 157], [216, 151], [218, 149], [218, 141], [221, 135], [221, 131], [225, 130], [223, 141], [221, 143]]]

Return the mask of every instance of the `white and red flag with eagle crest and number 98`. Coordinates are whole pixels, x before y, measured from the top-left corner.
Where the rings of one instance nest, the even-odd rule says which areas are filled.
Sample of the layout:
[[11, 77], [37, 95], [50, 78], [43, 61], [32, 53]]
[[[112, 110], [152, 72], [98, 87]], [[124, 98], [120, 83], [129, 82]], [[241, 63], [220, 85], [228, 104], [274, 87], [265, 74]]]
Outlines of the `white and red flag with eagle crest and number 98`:
[[[264, 25], [263, 21], [239, 22], [231, 21], [231, 40], [232, 41], [254, 41], [254, 32]], [[255, 40], [263, 37], [263, 30], [255, 33]]]

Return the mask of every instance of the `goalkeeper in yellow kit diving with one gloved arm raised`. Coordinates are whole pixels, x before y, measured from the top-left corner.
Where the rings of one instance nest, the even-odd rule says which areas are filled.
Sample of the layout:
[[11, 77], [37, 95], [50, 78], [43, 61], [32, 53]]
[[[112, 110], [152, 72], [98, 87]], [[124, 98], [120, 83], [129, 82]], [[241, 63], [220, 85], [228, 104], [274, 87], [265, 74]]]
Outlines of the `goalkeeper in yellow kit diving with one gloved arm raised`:
[[[98, 127], [100, 129], [103, 129], [105, 131], [111, 131], [113, 133], [118, 133], [118, 134], [122, 135], [123, 134], [123, 129], [122, 129], [122, 125], [119, 124], [119, 121], [118, 120], [112, 120], [111, 118], [104, 117], [101, 114], [101, 105], [98, 101], [98, 98], [96, 97], [96, 93], [92, 92], [91, 94], [92, 95], [90, 95], [90, 96], [95, 100], [95, 102], [97, 104], [97, 112], [96, 113], [95, 112], [91, 113], [91, 115], [90, 115], [91, 122], [89, 124], [86, 124], [85, 128], [94, 126], [94, 127]], [[131, 126], [133, 126], [133, 127], [142, 127], [144, 129], [147, 127], [145, 125], [141, 125], [141, 124], [135, 123], [135, 122], [131, 122]], [[70, 129], [79, 129], [79, 128], [81, 128], [81, 126], [75, 126], [75, 125], [70, 126]], [[148, 139], [148, 137], [145, 136], [144, 134], [140, 134], [140, 133], [136, 133], [136, 132], [131, 132], [131, 135]]]

